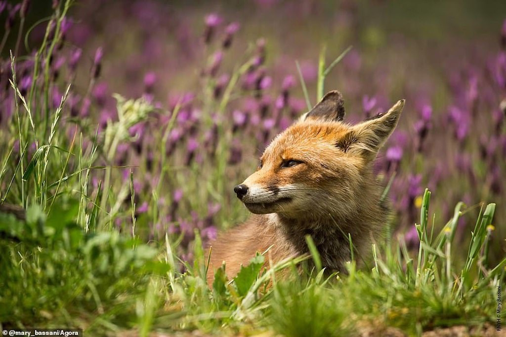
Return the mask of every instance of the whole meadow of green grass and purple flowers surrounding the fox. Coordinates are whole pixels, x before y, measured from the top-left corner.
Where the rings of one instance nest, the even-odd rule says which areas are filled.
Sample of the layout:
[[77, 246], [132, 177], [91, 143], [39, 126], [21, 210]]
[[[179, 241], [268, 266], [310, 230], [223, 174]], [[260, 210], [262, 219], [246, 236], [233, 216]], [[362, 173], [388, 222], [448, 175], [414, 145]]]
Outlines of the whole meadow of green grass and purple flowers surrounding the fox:
[[[217, 4], [0, 1], [2, 329], [504, 335], [503, 8], [441, 5], [469, 19], [452, 40], [390, 2]], [[308, 241], [209, 288], [207, 243], [248, 217], [233, 186], [333, 89], [350, 122], [406, 99], [376, 159], [394, 214], [372, 259], [328, 275]]]

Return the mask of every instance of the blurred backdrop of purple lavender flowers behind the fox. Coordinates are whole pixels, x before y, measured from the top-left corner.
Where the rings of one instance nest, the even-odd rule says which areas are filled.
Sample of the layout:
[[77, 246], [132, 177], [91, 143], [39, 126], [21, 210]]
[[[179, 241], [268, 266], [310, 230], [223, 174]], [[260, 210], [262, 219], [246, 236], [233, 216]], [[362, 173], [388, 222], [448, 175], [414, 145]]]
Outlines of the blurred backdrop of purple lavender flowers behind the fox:
[[[9, 50], [22, 61], [18, 85], [26, 92], [33, 70], [22, 55], [44, 39], [55, 3], [0, 2], [4, 144], [12, 133]], [[407, 101], [376, 163], [378, 179], [391, 182], [392, 235], [418, 244], [413, 225], [426, 187], [436, 227], [458, 201], [469, 207], [457, 232], [462, 242], [481, 203], [496, 202], [490, 239], [498, 261], [506, 249], [505, 19], [501, 1], [75, 2], [50, 61], [51, 100], [57, 106], [73, 83], [62, 120], [69, 130], [77, 125], [85, 147], [118, 121], [113, 93], [155, 107], [128, 125], [131, 138], [96, 160], [115, 167], [111, 195], [124, 199], [114, 208], [106, 198], [113, 225], [131, 231], [134, 197], [141, 236], [169, 233], [191, 259], [194, 229], [205, 241], [247, 218], [232, 187], [255, 170], [270, 139], [307, 111], [301, 78], [314, 105], [322, 51], [328, 65], [351, 46], [325, 79], [325, 91], [342, 92], [346, 120]], [[93, 172], [91, 199], [104, 175]]]

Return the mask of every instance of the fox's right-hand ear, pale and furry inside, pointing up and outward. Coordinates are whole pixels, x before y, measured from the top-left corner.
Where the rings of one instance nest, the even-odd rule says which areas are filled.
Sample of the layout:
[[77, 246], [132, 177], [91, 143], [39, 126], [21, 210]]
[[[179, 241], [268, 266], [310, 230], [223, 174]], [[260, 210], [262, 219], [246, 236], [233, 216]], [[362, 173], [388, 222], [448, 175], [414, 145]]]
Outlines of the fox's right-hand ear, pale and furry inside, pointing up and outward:
[[374, 159], [397, 126], [403, 107], [404, 100], [400, 100], [387, 113], [355, 125], [336, 146], [357, 152], [367, 160]]

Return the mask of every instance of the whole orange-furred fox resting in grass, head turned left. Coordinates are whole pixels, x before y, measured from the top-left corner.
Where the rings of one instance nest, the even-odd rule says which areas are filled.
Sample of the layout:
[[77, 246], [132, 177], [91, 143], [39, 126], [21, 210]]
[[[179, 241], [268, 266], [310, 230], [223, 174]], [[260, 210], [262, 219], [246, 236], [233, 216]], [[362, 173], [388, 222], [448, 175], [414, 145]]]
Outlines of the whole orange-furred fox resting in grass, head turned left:
[[223, 263], [231, 278], [257, 253], [269, 251], [274, 263], [309, 255], [308, 234], [321, 265], [346, 273], [351, 249], [364, 255], [391, 217], [373, 161], [396, 128], [404, 102], [350, 125], [342, 94], [331, 91], [277, 135], [257, 170], [234, 187], [252, 215], [210, 242], [208, 284]]

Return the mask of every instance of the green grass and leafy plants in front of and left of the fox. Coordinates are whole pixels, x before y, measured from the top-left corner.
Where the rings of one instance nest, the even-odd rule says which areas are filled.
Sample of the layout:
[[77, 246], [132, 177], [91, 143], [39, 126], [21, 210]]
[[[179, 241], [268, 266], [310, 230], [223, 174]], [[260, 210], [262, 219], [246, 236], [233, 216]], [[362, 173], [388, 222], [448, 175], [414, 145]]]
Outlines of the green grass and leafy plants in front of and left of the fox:
[[[55, 36], [68, 4], [52, 19]], [[48, 36], [49, 30], [35, 57], [35, 69], [48, 64], [44, 60], [55, 48], [56, 39], [50, 41]], [[327, 68], [321, 54], [319, 96], [325, 76], [348, 51]], [[119, 118], [99, 132], [87, 121], [64, 115], [70, 85], [58, 106], [49, 104], [56, 83], [47, 67], [43, 73], [34, 71], [27, 96], [21, 95], [17, 60], [11, 61], [16, 104], [9, 133], [0, 137], [2, 148], [8, 149], [1, 154], [0, 200], [21, 205], [26, 213], [16, 217], [0, 212], [2, 328], [80, 327], [89, 335], [135, 331], [146, 336], [198, 329], [219, 335], [267, 331], [286, 336], [349, 336], [367, 330], [381, 335], [388, 328], [421, 335], [436, 327], [495, 325], [497, 287], [504, 284], [506, 267], [506, 259], [494, 266], [488, 263], [495, 204], [481, 205], [468, 249], [454, 238], [459, 218], [469, 216], [473, 207], [458, 203], [447, 223], [434, 223], [431, 194], [426, 190], [416, 225], [420, 241], [416, 251], [402, 238], [391, 244], [388, 238], [371, 246], [371, 268], [357, 266], [352, 259], [347, 275], [328, 275], [308, 237], [312, 257], [281, 261], [269, 271], [261, 268], [268, 254], [251, 257], [251, 263], [231, 280], [225, 276], [226, 266], [221, 267], [209, 288], [199, 232], [195, 232], [190, 264], [179, 249], [183, 235], [149, 240], [147, 223], [163, 220], [158, 205], [168, 194], [162, 186], [167, 181], [169, 190], [184, 185], [185, 193], [195, 199], [187, 207], [198, 212], [205, 213], [208, 199], [228, 204], [230, 134], [220, 132], [219, 164], [209, 168], [210, 173], [207, 166], [195, 163], [180, 170], [177, 163], [165, 159], [164, 140], [181, 108], [176, 105], [158, 135], [161, 151], [154, 159], [160, 167], [158, 182], [142, 191], [153, 211], [139, 215], [136, 168], [123, 179], [124, 167], [117, 167], [114, 158], [120, 143], [133, 141], [129, 129], [149, 121], [158, 109], [144, 99], [116, 95]], [[218, 110], [230, 104], [235, 81], [247, 66], [246, 62], [238, 67]], [[38, 76], [44, 80], [36, 81]], [[306, 100], [310, 105], [309, 97]], [[31, 144], [34, 149], [29, 150]], [[94, 185], [97, 171], [103, 175]], [[206, 187], [199, 189], [201, 184]], [[237, 213], [237, 207], [230, 212]], [[227, 227], [227, 210], [222, 213], [222, 227]], [[129, 219], [129, 230], [116, 226], [117, 219], [120, 225]], [[296, 265], [309, 258], [316, 267], [299, 272]]]

